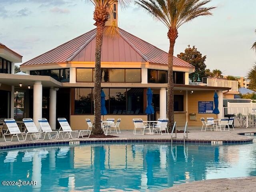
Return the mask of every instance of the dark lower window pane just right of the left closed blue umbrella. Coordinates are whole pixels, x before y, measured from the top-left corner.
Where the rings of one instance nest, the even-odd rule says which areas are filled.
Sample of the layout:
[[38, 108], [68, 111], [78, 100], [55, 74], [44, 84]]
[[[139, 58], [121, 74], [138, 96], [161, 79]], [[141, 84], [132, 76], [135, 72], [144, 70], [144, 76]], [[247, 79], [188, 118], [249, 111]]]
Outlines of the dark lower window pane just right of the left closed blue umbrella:
[[110, 89], [110, 114], [126, 114], [126, 89]]

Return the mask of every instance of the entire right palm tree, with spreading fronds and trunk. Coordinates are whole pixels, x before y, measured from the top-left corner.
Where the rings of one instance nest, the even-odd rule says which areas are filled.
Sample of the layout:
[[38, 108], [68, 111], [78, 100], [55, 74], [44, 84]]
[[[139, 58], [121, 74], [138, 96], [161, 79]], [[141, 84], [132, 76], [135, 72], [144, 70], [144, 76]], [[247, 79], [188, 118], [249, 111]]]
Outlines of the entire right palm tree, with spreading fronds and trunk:
[[210, 10], [215, 7], [204, 7], [211, 0], [136, 0], [135, 3], [146, 10], [153, 18], [162, 22], [167, 28], [167, 37], [170, 47], [168, 52], [168, 87], [167, 87], [167, 117], [168, 128], [174, 123], [174, 96], [173, 96], [173, 52], [178, 28], [182, 24], [198, 16], [210, 16]]

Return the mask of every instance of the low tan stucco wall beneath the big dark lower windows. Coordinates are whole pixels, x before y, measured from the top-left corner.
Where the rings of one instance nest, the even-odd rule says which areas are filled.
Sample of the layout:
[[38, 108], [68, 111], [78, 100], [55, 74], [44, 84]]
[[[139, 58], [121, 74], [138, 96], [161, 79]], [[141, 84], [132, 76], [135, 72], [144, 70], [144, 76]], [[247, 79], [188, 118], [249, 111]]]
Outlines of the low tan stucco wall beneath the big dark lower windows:
[[[88, 125], [85, 121], [86, 118], [90, 118], [93, 123], [93, 115], [71, 115], [70, 116], [70, 126], [72, 130], [82, 130], [87, 129]], [[103, 116], [101, 117], [103, 120]], [[148, 117], [146, 115], [104, 115], [104, 120], [107, 118], [115, 118], [115, 122], [118, 118], [121, 118], [120, 130], [133, 130], [134, 124], [132, 122], [133, 118], [142, 118], [146, 121]]]

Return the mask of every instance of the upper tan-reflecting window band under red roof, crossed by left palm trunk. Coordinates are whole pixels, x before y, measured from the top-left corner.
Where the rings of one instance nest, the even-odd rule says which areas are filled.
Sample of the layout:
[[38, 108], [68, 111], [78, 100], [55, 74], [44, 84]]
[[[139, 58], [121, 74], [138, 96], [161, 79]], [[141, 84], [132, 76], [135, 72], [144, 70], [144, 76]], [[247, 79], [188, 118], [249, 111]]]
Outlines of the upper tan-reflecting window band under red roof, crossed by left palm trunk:
[[[77, 68], [77, 82], [93, 82], [94, 69]], [[101, 68], [101, 82], [141, 82], [141, 69]]]

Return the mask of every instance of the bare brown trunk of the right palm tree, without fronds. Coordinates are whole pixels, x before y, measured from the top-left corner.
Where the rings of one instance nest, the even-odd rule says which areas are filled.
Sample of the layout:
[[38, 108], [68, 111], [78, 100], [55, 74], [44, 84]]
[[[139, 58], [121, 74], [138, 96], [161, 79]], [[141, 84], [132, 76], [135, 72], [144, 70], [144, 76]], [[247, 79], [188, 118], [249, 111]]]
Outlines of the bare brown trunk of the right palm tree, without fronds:
[[178, 37], [178, 31], [176, 29], [170, 29], [168, 31], [168, 38], [170, 40], [170, 48], [168, 52], [168, 85], [167, 85], [167, 118], [168, 121], [168, 131], [172, 130], [174, 124], [174, 92], [173, 92], [173, 52], [175, 40]]

